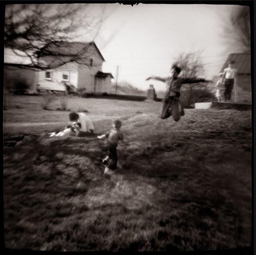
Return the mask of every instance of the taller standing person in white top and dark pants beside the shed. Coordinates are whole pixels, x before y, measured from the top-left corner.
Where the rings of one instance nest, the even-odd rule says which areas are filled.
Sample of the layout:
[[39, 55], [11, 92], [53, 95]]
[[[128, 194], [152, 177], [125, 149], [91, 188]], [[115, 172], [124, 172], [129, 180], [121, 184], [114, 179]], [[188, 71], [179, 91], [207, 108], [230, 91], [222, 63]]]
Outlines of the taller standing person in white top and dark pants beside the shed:
[[236, 80], [237, 80], [237, 70], [234, 68], [235, 61], [230, 61], [228, 63], [228, 67], [224, 69], [224, 73], [222, 75], [222, 82], [224, 81], [224, 101], [230, 101], [231, 92]]

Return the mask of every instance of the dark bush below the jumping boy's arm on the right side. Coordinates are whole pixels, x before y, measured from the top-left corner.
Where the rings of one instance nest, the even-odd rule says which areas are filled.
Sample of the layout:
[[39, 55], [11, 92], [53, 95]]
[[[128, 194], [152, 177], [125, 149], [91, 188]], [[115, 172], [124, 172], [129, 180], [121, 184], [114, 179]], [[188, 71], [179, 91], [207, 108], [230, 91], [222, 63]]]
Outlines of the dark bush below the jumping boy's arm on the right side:
[[195, 103], [212, 102], [214, 93], [207, 84], [187, 84], [180, 89], [180, 103], [190, 108]]

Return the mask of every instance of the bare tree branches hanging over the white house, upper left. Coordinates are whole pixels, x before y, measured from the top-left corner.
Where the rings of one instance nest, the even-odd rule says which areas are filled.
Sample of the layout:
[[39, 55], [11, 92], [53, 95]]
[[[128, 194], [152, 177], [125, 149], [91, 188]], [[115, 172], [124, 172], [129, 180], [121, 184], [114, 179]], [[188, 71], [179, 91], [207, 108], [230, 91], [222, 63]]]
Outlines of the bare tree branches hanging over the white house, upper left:
[[[56, 68], [81, 61], [90, 66], [90, 61], [84, 60], [84, 52], [88, 51], [91, 43], [77, 43], [77, 40], [85, 35], [92, 38], [90, 41], [95, 39], [104, 12], [93, 15], [95, 11], [90, 11], [90, 7], [90, 4], [7, 5], [5, 47], [17, 55], [25, 54], [36, 69]], [[44, 56], [53, 56], [54, 59], [39, 61]]]

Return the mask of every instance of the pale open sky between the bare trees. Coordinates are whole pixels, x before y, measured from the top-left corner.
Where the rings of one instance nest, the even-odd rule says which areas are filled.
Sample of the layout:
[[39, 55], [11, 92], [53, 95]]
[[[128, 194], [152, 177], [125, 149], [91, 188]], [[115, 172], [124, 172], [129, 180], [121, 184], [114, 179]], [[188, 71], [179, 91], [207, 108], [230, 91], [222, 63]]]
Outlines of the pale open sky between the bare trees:
[[[223, 25], [233, 5], [93, 4], [108, 16], [94, 41], [105, 58], [103, 72], [113, 82], [148, 89], [151, 75], [166, 77], [180, 53], [201, 52], [204, 78], [218, 75], [234, 49], [224, 40]], [[117, 75], [118, 67], [118, 75]], [[152, 84], [152, 82], [150, 81]], [[156, 90], [165, 84], [154, 82]]]

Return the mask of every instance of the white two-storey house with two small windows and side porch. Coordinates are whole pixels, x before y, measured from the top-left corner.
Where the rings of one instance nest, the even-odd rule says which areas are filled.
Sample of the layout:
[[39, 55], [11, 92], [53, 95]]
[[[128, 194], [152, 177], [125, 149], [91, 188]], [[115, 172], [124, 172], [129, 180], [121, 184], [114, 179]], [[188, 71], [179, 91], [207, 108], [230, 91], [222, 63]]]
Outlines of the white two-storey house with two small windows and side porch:
[[[65, 91], [66, 83], [88, 93], [112, 92], [113, 75], [102, 72], [105, 59], [94, 42], [51, 42], [41, 49], [38, 57], [39, 63], [47, 69], [29, 70], [30, 64], [27, 60], [23, 63], [14, 63], [15, 61], [11, 60], [13, 57], [5, 54], [6, 83], [10, 83], [10, 79], [18, 68], [20, 72], [24, 71], [28, 82], [33, 80], [30, 83], [33, 91], [37, 89]], [[12, 69], [13, 65], [15, 65], [15, 71]]]

